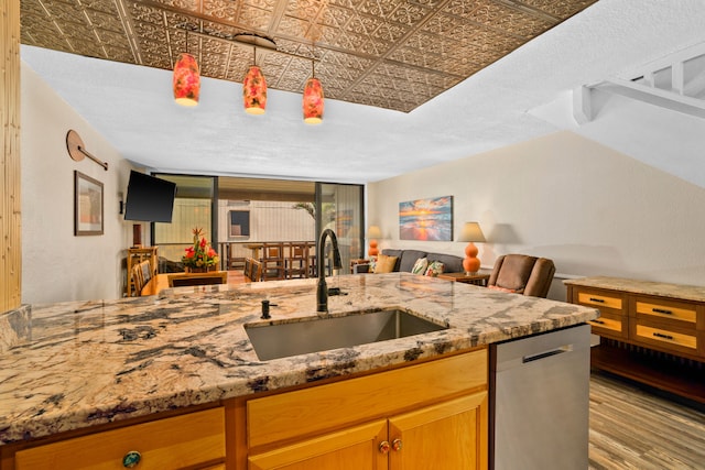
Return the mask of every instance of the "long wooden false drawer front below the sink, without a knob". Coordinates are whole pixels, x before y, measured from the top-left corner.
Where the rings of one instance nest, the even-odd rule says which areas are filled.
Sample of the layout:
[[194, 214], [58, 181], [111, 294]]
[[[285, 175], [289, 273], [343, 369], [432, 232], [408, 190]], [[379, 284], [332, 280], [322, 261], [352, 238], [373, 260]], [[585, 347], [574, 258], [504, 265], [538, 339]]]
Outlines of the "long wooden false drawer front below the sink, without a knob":
[[248, 447], [311, 436], [487, 389], [487, 349], [247, 402]]

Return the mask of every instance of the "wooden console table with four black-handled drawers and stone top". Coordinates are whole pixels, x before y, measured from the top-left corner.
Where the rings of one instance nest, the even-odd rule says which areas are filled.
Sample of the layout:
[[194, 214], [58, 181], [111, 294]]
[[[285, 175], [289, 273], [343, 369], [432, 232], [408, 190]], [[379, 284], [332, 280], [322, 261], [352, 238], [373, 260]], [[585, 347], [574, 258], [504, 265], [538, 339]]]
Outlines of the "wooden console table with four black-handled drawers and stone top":
[[567, 302], [596, 307], [592, 365], [705, 403], [705, 287], [585, 277]]

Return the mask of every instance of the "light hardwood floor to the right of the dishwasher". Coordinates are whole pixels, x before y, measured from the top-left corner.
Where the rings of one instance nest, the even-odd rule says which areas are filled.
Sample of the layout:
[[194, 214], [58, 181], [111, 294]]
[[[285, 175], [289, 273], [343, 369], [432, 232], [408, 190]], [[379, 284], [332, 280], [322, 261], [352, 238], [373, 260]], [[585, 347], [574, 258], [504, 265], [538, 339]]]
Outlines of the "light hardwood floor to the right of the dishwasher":
[[705, 413], [593, 372], [589, 468], [705, 470]]

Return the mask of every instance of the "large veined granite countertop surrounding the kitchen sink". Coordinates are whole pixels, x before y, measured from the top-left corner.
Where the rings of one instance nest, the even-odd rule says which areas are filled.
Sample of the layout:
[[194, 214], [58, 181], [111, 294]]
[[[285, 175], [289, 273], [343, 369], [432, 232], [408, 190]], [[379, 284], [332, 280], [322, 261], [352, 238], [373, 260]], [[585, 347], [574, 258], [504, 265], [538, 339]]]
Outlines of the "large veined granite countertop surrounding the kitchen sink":
[[[316, 316], [316, 280], [180, 287], [31, 306], [31, 340], [0, 353], [0, 444], [300, 385], [573, 326], [593, 308], [406, 273], [328, 278], [329, 315], [401, 307], [448, 329], [260, 361], [243, 325]], [[0, 323], [0, 328], [4, 328]]]

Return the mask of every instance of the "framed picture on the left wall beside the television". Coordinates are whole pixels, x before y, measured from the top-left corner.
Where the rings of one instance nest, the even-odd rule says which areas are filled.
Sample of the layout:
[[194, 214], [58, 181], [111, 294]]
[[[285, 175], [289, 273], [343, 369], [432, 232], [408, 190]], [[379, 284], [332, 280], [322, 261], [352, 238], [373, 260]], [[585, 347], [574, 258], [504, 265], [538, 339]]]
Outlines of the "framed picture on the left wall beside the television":
[[102, 183], [74, 171], [74, 236], [99, 236], [102, 233]]

